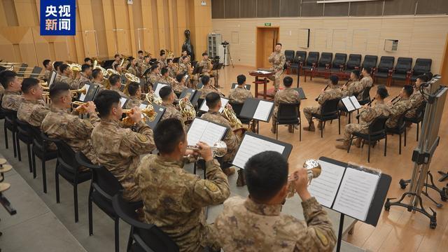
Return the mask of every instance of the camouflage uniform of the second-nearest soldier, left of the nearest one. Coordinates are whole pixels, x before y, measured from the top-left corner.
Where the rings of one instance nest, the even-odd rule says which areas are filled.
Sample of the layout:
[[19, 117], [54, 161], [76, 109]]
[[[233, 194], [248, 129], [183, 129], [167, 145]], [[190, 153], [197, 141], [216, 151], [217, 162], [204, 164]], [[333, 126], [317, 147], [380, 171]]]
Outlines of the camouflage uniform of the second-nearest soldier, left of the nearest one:
[[207, 180], [186, 172], [182, 161], [147, 155], [137, 170], [145, 221], [169, 235], [180, 251], [214, 245], [204, 207], [220, 204], [230, 195], [218, 161], [206, 162], [205, 167]]

